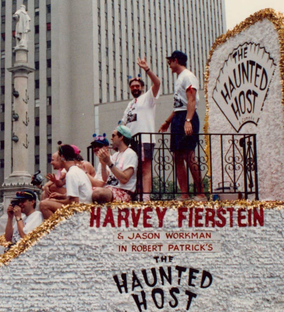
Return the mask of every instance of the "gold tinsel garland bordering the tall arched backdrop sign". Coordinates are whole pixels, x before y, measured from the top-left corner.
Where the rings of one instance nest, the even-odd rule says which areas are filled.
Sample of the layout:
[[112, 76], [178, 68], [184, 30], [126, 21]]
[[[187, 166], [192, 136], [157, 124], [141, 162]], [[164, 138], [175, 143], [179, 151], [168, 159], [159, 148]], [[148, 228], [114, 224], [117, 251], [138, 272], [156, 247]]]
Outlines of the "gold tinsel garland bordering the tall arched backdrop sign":
[[[260, 22], [263, 19], [268, 19], [270, 22], [273, 23], [276, 31], [278, 32], [278, 38], [279, 38], [279, 46], [280, 46], [280, 61], [279, 61], [279, 68], [280, 68], [280, 76], [281, 76], [281, 84], [282, 84], [282, 105], [284, 106], [284, 16], [280, 12], [276, 12], [273, 9], [263, 9], [260, 10], [249, 17], [247, 17], [244, 21], [236, 25], [233, 30], [228, 30], [225, 34], [219, 36], [215, 42], [213, 43], [213, 46], [209, 52], [209, 57], [206, 63], [206, 71], [204, 76], [204, 92], [205, 92], [205, 101], [206, 101], [206, 113], [205, 113], [205, 119], [204, 119], [204, 133], [208, 133], [208, 127], [209, 127], [209, 104], [208, 104], [208, 80], [209, 80], [209, 63], [211, 61], [211, 57], [214, 53], [214, 51], [218, 48], [219, 45], [224, 44], [228, 39], [231, 37], [234, 37], [235, 35], [239, 34], [240, 32], [244, 31], [248, 27], [252, 26], [256, 22]], [[208, 172], [211, 172], [211, 166], [210, 166], [210, 146], [209, 146], [209, 138], [208, 136], [205, 137], [205, 152], [208, 156]]]

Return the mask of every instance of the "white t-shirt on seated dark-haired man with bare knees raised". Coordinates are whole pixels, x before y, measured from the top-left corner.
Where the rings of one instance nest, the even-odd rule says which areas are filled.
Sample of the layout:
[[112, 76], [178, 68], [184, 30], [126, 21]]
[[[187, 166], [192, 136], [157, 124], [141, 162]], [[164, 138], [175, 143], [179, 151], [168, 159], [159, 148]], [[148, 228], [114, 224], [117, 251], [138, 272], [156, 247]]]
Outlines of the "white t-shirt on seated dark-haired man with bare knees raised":
[[86, 173], [76, 165], [66, 173], [66, 196], [79, 197], [79, 202], [92, 203], [92, 184]]

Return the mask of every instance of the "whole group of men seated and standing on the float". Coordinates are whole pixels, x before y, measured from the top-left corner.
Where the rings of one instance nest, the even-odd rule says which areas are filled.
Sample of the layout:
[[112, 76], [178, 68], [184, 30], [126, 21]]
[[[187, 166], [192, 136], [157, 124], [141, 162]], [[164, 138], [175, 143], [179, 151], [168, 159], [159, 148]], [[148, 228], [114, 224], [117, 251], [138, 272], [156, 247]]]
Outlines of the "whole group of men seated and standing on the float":
[[[205, 201], [203, 184], [194, 150], [198, 144], [199, 120], [196, 109], [199, 103], [198, 80], [186, 68], [187, 56], [174, 51], [167, 57], [168, 65], [177, 74], [174, 86], [174, 109], [160, 126], [165, 132], [171, 125], [170, 149], [174, 153], [177, 178], [181, 190], [178, 200], [189, 199], [188, 177], [185, 163], [188, 164], [197, 186], [197, 195], [191, 199]], [[26, 189], [16, 194], [16, 205], [7, 208], [8, 220], [5, 231], [7, 241], [15, 243], [24, 237], [43, 219], [48, 219], [63, 204], [104, 203], [111, 201], [129, 202], [136, 188], [138, 157], [130, 147], [132, 136], [137, 133], [155, 132], [155, 103], [159, 98], [160, 79], [151, 71], [146, 59], [138, 58], [137, 64], [149, 76], [153, 85], [144, 92], [144, 82], [140, 77], [130, 79], [129, 86], [133, 99], [127, 105], [121, 123], [111, 134], [113, 155], [109, 152], [109, 141], [104, 135], [94, 136], [91, 143], [99, 159], [98, 167], [84, 161], [80, 149], [75, 145], [60, 144], [52, 155], [51, 165], [57, 173], [48, 173], [48, 182], [42, 190], [39, 211], [35, 210], [36, 194]], [[143, 200], [149, 201], [151, 192], [151, 161], [154, 153], [154, 138], [142, 135], [142, 182]], [[12, 221], [15, 217], [16, 222]]]

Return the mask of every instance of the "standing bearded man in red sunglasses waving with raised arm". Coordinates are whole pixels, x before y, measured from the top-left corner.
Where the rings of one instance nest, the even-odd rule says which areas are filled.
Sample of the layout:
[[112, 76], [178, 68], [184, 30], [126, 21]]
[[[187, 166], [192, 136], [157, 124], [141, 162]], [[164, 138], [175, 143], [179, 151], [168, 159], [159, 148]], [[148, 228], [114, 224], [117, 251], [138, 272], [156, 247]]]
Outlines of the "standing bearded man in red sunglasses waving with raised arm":
[[[153, 85], [144, 93], [144, 81], [140, 77], [130, 79], [129, 86], [134, 99], [131, 100], [124, 112], [122, 123], [130, 128], [132, 135], [139, 132], [155, 132], [155, 104], [159, 98], [160, 80], [151, 71], [146, 58], [138, 62], [140, 68], [144, 69]], [[150, 134], [142, 134], [142, 181], [143, 201], [150, 200], [151, 192], [151, 161], [153, 159], [155, 137]], [[148, 193], [148, 194], [147, 194]]]

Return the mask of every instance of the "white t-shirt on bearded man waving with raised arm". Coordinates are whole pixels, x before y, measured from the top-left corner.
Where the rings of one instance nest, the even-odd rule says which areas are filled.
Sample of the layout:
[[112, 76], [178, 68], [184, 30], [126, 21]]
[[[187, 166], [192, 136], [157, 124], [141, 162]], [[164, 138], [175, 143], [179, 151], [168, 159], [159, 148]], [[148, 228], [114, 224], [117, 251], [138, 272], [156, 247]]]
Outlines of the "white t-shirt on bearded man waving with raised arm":
[[[155, 132], [155, 104], [158, 98], [159, 91], [154, 97], [150, 88], [146, 93], [128, 103], [121, 121], [131, 130], [132, 135], [139, 132]], [[149, 134], [142, 134], [142, 142], [151, 143], [150, 137]], [[152, 135], [152, 143], [155, 143], [154, 135]]]

